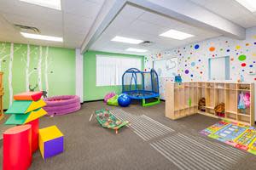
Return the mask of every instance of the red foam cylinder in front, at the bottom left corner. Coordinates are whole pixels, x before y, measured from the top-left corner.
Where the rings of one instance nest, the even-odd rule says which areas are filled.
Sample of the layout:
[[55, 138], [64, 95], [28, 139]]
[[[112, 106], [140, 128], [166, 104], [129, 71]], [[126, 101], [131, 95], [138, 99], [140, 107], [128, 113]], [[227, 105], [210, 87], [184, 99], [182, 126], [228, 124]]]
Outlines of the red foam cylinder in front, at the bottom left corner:
[[11, 127], [3, 133], [3, 170], [26, 170], [32, 162], [31, 125]]

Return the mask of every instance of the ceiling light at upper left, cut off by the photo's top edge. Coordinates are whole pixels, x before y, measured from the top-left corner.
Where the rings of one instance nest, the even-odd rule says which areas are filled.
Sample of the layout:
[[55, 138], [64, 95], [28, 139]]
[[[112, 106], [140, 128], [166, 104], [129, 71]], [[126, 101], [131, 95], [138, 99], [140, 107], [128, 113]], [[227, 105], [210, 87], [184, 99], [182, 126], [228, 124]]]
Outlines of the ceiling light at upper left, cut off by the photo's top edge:
[[54, 8], [57, 10], [61, 10], [61, 0], [20, 0], [20, 1], [25, 3], [32, 3], [35, 5], [39, 5], [47, 8]]

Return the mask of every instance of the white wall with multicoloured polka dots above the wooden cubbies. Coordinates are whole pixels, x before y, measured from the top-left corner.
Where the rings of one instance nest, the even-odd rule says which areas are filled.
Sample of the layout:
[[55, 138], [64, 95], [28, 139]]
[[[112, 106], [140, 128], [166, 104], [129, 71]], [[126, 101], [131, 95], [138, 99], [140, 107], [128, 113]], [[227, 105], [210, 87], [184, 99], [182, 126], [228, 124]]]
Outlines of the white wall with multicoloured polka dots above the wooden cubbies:
[[[165, 51], [160, 51], [155, 54], [148, 55], [145, 58], [145, 68], [152, 68], [152, 61], [160, 59], [177, 57], [178, 69], [177, 74], [180, 74], [183, 82], [188, 81], [207, 81], [208, 80], [208, 59], [230, 56], [230, 80], [236, 82], [241, 75], [245, 81], [256, 81], [250, 71], [256, 68], [256, 27], [247, 32], [247, 39], [244, 41], [231, 39], [229, 37], [212, 38], [206, 41], [192, 43], [180, 48], [174, 48]], [[153, 58], [151, 57], [153, 56]], [[174, 76], [174, 75], [173, 75]], [[164, 82], [163, 82], [164, 81]], [[161, 82], [161, 99], [165, 95], [165, 83], [173, 82], [173, 77], [160, 79]]]

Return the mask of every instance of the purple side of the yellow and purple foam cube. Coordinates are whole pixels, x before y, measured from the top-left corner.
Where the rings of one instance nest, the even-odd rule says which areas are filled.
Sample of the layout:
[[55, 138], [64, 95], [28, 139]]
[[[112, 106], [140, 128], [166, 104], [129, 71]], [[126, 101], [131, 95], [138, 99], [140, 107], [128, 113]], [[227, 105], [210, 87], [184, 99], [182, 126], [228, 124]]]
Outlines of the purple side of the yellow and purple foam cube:
[[64, 151], [64, 137], [49, 140], [44, 143], [44, 159]]

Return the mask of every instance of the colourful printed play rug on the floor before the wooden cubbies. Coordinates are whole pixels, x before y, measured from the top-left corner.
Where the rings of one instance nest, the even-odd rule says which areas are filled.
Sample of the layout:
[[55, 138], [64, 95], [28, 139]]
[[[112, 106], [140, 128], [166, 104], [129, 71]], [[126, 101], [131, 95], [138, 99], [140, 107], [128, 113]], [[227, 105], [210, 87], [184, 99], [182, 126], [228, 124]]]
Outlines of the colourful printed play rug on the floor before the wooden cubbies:
[[235, 122], [220, 121], [200, 132], [256, 155], [256, 128]]

